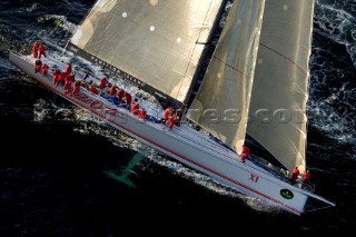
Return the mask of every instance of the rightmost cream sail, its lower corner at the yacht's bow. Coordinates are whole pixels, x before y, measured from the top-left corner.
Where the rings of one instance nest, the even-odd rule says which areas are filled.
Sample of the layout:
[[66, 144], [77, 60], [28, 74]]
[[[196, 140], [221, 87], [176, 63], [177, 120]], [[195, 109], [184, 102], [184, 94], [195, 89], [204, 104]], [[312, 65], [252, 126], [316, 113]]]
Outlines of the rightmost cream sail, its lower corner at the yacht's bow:
[[247, 132], [286, 168], [305, 170], [314, 0], [267, 0]]

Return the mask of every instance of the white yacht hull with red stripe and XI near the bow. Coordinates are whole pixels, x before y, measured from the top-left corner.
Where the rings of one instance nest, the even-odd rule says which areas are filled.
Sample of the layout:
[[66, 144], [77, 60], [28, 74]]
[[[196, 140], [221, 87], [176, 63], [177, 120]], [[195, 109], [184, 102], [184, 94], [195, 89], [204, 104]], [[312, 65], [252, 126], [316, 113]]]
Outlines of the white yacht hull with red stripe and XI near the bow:
[[[61, 87], [53, 86], [50, 70], [47, 77], [42, 77], [40, 72], [34, 73], [32, 59], [29, 57], [10, 51], [10, 60], [44, 87], [78, 107], [91, 111], [112, 127], [239, 192], [266, 200], [295, 215], [305, 211], [308, 198], [334, 206], [317, 195], [278, 179], [248, 160], [241, 162], [237, 154], [204, 137], [187, 125], [175, 127], [171, 131], [162, 130], [162, 125], [144, 122], [128, 110], [93, 96], [86, 89], [81, 89], [77, 96], [66, 93]], [[286, 195], [283, 196], [281, 192]]]

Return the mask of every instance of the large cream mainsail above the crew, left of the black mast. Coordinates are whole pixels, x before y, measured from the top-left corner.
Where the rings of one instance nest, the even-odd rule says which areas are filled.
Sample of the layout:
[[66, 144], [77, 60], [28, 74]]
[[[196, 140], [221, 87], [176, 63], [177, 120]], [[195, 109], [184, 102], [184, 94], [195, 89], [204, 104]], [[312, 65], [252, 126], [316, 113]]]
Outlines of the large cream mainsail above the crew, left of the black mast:
[[222, 0], [99, 0], [67, 49], [182, 102]]

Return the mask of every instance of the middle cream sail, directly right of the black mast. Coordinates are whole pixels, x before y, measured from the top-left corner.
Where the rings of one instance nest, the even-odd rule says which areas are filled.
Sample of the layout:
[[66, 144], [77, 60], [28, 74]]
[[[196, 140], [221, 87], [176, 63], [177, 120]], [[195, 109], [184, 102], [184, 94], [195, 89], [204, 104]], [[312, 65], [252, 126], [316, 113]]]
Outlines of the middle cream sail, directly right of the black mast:
[[240, 152], [264, 11], [264, 0], [235, 0], [187, 117]]

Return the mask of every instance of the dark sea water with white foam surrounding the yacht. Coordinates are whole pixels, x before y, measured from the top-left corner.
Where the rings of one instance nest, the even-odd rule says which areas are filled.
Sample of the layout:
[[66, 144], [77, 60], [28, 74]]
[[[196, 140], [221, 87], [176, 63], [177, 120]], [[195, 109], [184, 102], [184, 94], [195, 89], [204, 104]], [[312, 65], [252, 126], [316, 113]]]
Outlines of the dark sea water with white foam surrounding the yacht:
[[355, 233], [355, 0], [316, 0], [307, 165], [316, 192], [336, 207], [299, 217], [167, 159], [42, 88], [8, 60], [10, 46], [26, 52], [36, 39], [49, 50], [65, 47], [93, 3], [0, 1], [1, 237]]

